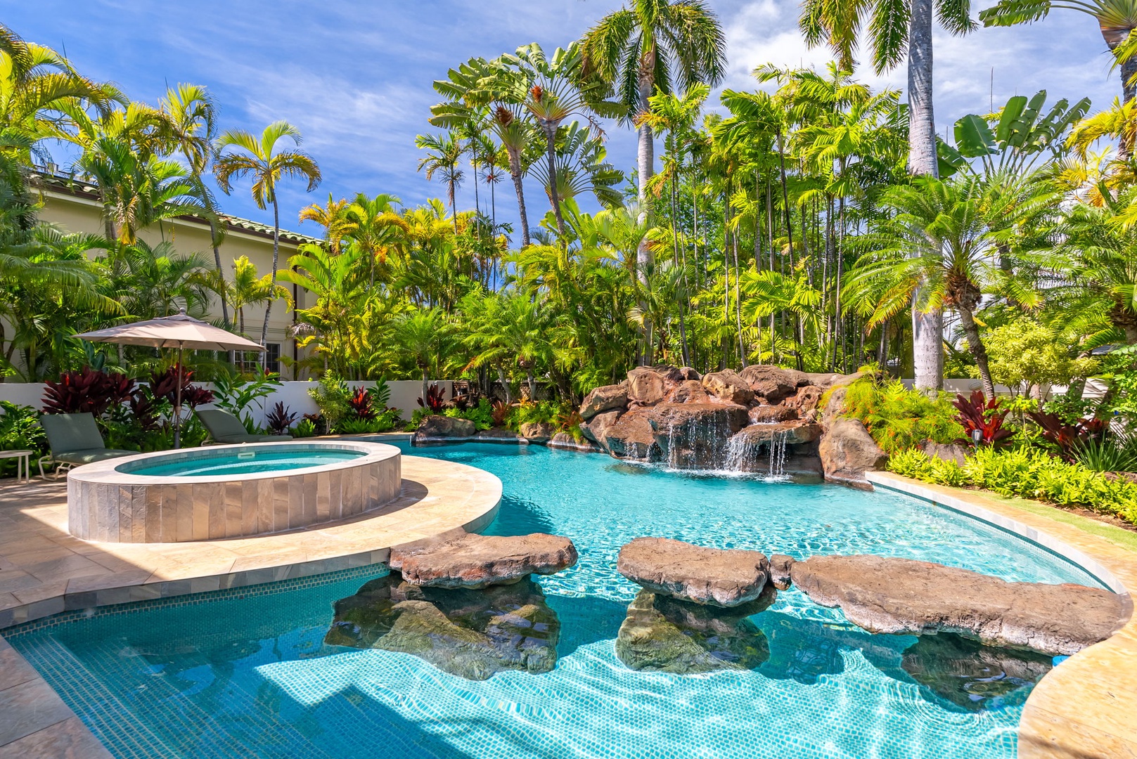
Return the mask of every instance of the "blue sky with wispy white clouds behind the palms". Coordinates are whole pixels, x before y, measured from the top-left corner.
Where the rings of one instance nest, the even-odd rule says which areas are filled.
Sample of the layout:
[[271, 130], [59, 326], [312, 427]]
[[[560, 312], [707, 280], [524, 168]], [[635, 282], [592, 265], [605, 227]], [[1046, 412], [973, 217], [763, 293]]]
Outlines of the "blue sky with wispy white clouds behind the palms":
[[[973, 14], [993, 5], [979, 0]], [[823, 66], [823, 49], [810, 50], [797, 32], [795, 0], [709, 0], [728, 36], [730, 72], [723, 86], [753, 89], [755, 66]], [[318, 161], [323, 184], [312, 194], [293, 184], [281, 191], [282, 226], [299, 225], [297, 212], [357, 192], [390, 192], [414, 205], [441, 197], [440, 185], [416, 172], [414, 137], [429, 128], [431, 89], [471, 56], [493, 57], [528, 42], [547, 49], [578, 37], [616, 0], [389, 0], [300, 2], [196, 0], [36, 0], [8, 2], [2, 23], [24, 39], [66, 49], [76, 67], [118, 84], [136, 100], [155, 102], [166, 84], [193, 82], [214, 93], [222, 128], [259, 132], [275, 119], [297, 125], [302, 149]], [[1088, 16], [1055, 11], [1032, 26], [984, 30], [965, 37], [936, 37], [936, 116], [943, 134], [968, 112], [988, 107], [994, 67], [995, 103], [1046, 89], [1060, 97], [1089, 95], [1107, 107], [1120, 92], [1117, 72]], [[883, 77], [858, 76], [903, 90], [903, 67]], [[712, 105], [717, 95], [712, 95]], [[632, 170], [634, 135], [608, 128], [609, 158]], [[467, 170], [467, 176], [470, 172]], [[531, 208], [543, 197], [526, 186]], [[498, 217], [515, 216], [508, 184], [498, 185]], [[272, 222], [256, 208], [247, 185], [221, 198], [226, 212]], [[473, 206], [468, 182], [459, 207]], [[532, 212], [532, 211], [531, 211]]]

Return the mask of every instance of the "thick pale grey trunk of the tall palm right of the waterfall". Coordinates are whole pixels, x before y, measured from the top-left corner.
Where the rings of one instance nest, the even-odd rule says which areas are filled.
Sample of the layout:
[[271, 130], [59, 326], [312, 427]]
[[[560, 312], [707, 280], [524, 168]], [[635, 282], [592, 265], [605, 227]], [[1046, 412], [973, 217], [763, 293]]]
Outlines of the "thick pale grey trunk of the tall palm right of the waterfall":
[[[908, 172], [938, 176], [932, 112], [931, 20], [933, 0], [912, 0], [908, 26]], [[919, 308], [921, 283], [912, 294], [912, 359], [916, 390], [944, 386], [944, 312]]]

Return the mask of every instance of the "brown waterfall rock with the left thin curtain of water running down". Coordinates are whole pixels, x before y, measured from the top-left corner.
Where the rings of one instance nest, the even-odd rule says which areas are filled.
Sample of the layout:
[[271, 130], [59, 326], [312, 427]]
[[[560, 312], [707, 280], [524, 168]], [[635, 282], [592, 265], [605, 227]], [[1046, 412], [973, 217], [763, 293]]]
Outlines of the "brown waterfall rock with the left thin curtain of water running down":
[[747, 423], [735, 403], [659, 403], [648, 418], [663, 460], [677, 469], [725, 464], [727, 441]]

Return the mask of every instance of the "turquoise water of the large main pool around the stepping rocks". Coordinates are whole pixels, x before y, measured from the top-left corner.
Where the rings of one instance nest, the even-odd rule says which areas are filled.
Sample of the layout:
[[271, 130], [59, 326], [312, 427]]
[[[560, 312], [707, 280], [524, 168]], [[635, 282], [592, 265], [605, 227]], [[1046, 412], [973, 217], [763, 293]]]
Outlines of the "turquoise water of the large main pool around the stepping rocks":
[[490, 532], [575, 541], [578, 566], [539, 578], [561, 622], [553, 672], [474, 682], [410, 654], [326, 645], [332, 604], [381, 568], [139, 604], [9, 640], [117, 757], [1010, 759], [1028, 689], [978, 711], [954, 707], [902, 666], [916, 639], [869, 635], [795, 591], [752, 618], [770, 653], [756, 669], [628, 669], [613, 642], [636, 587], [615, 572], [620, 545], [665, 535], [1098, 584], [1038, 547], [899, 495], [670, 474], [537, 447], [405, 452], [501, 477]]

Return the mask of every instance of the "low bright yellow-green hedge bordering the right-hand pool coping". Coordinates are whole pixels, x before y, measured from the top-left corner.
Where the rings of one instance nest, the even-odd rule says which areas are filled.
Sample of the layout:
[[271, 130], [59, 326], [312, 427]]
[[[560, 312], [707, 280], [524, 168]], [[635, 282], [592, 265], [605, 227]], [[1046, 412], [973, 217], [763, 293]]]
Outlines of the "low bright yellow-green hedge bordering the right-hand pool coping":
[[888, 468], [924, 482], [955, 487], [974, 485], [1001, 495], [1084, 506], [1137, 524], [1137, 484], [1109, 479], [1081, 464], [1067, 464], [1045, 451], [979, 448], [961, 467], [910, 450], [890, 457]]

